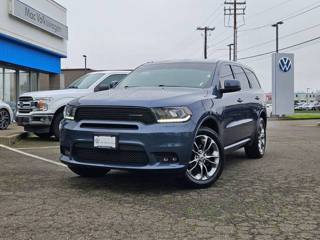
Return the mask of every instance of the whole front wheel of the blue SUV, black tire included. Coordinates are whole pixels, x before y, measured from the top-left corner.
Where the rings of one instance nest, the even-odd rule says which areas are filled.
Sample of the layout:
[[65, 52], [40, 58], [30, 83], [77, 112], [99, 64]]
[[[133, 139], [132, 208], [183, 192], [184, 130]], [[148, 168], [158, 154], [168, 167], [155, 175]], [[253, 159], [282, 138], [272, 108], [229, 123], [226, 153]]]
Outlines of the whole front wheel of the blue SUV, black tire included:
[[218, 134], [208, 127], [201, 127], [192, 145], [189, 165], [177, 179], [192, 188], [211, 186], [222, 173], [224, 166], [224, 147]]

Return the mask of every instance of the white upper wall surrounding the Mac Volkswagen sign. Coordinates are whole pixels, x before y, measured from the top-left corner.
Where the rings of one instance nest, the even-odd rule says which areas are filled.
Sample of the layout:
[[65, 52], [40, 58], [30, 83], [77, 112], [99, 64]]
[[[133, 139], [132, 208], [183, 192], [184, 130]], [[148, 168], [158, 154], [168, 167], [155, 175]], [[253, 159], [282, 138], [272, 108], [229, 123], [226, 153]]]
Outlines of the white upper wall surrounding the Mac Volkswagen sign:
[[[0, 0], [0, 33], [66, 55], [66, 40], [8, 13], [9, 0]], [[53, 0], [20, 0], [66, 24], [66, 9]]]

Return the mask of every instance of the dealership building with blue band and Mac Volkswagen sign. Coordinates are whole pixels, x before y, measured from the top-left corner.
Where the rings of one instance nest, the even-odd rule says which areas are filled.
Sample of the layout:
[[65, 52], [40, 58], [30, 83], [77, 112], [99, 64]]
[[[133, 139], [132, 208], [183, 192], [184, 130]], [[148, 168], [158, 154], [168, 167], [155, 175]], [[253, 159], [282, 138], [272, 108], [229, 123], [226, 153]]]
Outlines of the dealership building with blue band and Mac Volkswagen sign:
[[[53, 0], [0, 1], [0, 100], [64, 86], [66, 8]], [[40, 80], [41, 79], [41, 80]]]

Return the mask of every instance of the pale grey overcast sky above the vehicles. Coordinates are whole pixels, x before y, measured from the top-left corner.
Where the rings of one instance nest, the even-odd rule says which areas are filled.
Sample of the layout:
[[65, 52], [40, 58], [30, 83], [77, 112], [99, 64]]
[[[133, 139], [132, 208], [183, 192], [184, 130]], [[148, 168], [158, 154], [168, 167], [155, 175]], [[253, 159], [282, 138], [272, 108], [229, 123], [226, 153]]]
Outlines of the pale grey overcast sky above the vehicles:
[[[224, 0], [56, 1], [67, 8], [69, 29], [67, 58], [62, 59], [62, 68], [84, 67], [83, 54], [87, 55], [87, 67], [93, 69], [132, 69], [151, 60], [203, 58], [203, 37], [195, 30], [199, 25], [216, 26], [209, 36], [208, 54], [214, 52], [208, 58], [228, 59], [228, 50], [223, 48], [233, 38], [232, 28], [223, 25], [221, 3]], [[246, 2], [244, 18], [247, 19], [245, 25], [238, 28], [238, 58], [275, 49], [275, 41], [272, 41], [275, 39], [274, 27], [240, 30], [269, 25], [320, 5], [318, 0]], [[284, 4], [267, 10], [280, 3]], [[317, 7], [285, 20], [279, 26], [279, 37], [320, 24], [319, 15], [320, 7]], [[279, 39], [279, 48], [318, 36], [320, 25]], [[242, 50], [267, 41], [271, 42]], [[316, 40], [308, 44], [313, 42]], [[295, 91], [305, 91], [306, 87], [311, 91], [320, 89], [320, 42], [288, 50], [295, 54]], [[242, 61], [255, 70], [264, 91], [268, 92], [271, 90], [271, 57], [261, 57]]]

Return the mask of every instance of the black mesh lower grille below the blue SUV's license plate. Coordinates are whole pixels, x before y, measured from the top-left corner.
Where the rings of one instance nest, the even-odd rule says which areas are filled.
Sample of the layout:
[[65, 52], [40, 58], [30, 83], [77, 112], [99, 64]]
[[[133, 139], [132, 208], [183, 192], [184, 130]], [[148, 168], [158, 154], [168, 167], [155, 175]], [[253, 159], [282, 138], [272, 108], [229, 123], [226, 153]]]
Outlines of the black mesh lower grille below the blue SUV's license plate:
[[144, 150], [86, 148], [74, 146], [72, 155], [80, 162], [101, 162], [110, 164], [147, 165], [149, 160]]

